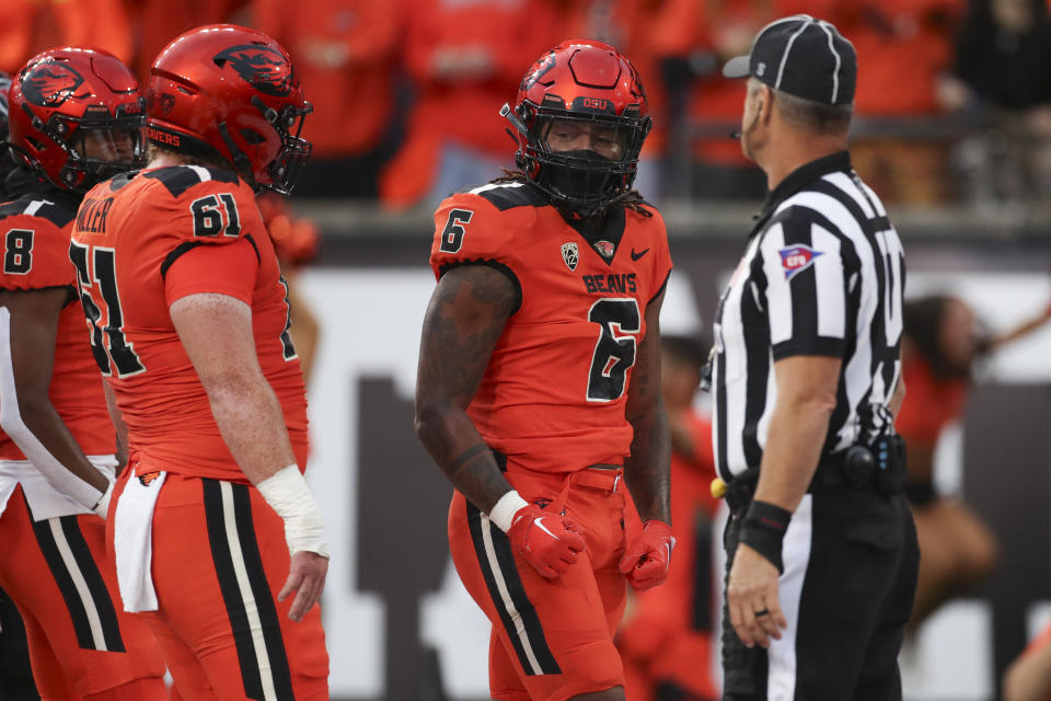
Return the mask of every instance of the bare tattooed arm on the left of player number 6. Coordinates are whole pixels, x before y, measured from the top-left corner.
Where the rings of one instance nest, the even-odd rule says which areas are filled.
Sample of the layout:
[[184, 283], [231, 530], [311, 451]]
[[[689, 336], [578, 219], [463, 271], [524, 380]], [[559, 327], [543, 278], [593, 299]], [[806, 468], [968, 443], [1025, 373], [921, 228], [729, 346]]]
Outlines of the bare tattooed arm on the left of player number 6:
[[516, 302], [506, 274], [458, 265], [438, 281], [419, 346], [416, 435], [449, 481], [485, 513], [511, 485], [466, 409]]

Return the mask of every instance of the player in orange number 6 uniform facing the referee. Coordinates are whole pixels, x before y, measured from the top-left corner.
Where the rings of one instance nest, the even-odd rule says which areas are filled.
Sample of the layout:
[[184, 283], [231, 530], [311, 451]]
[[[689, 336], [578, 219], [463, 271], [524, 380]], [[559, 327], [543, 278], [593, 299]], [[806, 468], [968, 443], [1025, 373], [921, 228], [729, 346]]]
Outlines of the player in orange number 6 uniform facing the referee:
[[[612, 46], [570, 41], [503, 114], [521, 170], [435, 214], [416, 433], [457, 487], [450, 548], [493, 622], [493, 698], [623, 700], [626, 585], [663, 582], [673, 544], [658, 330], [671, 257], [632, 189], [646, 94]], [[625, 483], [645, 521], [632, 542]]]

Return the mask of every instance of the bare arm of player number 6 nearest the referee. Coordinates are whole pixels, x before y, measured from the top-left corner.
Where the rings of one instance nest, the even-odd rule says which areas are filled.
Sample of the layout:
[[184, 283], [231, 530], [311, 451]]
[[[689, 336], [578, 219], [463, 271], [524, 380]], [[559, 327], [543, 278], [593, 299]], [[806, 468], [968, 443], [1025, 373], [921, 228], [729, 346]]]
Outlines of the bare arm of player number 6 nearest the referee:
[[624, 479], [643, 521], [671, 524], [669, 506], [671, 439], [660, 394], [661, 291], [646, 308], [646, 336], [638, 345], [626, 415], [635, 429], [632, 455], [624, 463]]

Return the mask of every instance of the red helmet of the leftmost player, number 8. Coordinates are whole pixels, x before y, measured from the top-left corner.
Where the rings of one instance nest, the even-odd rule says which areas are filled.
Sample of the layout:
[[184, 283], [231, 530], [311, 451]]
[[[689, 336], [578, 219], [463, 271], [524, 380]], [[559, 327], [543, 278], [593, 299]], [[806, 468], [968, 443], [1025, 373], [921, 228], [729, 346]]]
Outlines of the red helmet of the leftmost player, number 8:
[[56, 187], [86, 192], [143, 164], [146, 102], [112, 54], [80, 46], [37, 54], [8, 99], [12, 156]]

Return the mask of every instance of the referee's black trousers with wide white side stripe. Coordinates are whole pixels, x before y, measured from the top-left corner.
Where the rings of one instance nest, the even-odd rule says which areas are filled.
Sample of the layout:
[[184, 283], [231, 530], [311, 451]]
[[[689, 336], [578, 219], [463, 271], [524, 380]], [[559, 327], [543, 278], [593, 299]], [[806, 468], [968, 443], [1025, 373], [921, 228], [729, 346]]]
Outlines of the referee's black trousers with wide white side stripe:
[[[727, 573], [739, 515], [727, 525]], [[901, 495], [823, 486], [785, 535], [778, 582], [788, 630], [769, 651], [744, 647], [724, 599], [724, 701], [898, 701], [898, 652], [920, 550]]]

